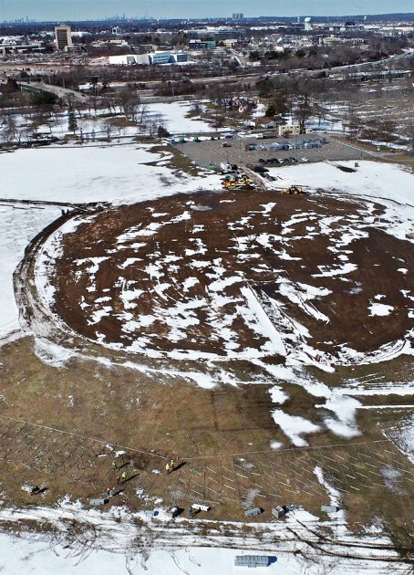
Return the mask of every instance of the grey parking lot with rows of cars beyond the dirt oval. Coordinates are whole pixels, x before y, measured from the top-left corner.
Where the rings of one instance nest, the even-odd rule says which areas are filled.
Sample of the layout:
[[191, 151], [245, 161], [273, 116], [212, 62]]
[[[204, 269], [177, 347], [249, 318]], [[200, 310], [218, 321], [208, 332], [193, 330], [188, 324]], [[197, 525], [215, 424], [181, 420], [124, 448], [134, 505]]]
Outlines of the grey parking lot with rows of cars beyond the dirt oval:
[[[248, 151], [249, 144], [268, 145], [274, 141], [289, 143], [295, 145], [296, 141], [312, 141], [318, 138], [326, 137], [327, 143], [321, 148], [299, 150], [290, 149], [286, 151], [254, 150]], [[223, 146], [224, 144], [224, 146]], [[233, 139], [206, 140], [206, 141], [187, 141], [175, 144], [176, 147], [186, 154], [192, 162], [200, 166], [207, 167], [209, 164], [220, 165], [220, 162], [236, 163], [239, 166], [246, 164], [259, 164], [259, 161], [275, 159], [284, 159], [294, 157], [297, 162], [324, 162], [324, 161], [345, 161], [372, 159], [372, 153], [365, 152], [351, 144], [334, 141], [327, 137], [326, 134], [309, 134], [306, 136], [297, 136], [291, 138], [273, 138], [258, 140], [254, 137], [241, 138], [237, 135]], [[304, 160], [305, 158], [305, 160]], [[260, 162], [263, 163], [263, 162]]]

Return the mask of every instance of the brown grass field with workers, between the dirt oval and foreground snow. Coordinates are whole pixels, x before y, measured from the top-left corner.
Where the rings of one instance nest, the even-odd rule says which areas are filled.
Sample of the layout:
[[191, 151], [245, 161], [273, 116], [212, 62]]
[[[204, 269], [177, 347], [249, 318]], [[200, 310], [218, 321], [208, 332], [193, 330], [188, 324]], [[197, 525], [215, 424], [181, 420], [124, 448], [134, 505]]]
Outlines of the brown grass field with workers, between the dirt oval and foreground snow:
[[[181, 378], [166, 383], [161, 374], [150, 377], [82, 359], [57, 369], [36, 357], [29, 339], [0, 350], [0, 362], [0, 482], [8, 504], [52, 505], [66, 494], [88, 504], [88, 497], [118, 488], [119, 471], [111, 462], [114, 450], [120, 450], [117, 463], [128, 480], [110, 504], [131, 509], [156, 505], [152, 498], [137, 497], [139, 488], [166, 505], [186, 508], [194, 500], [209, 501], [209, 518], [242, 520], [243, 509], [257, 505], [264, 508], [260, 519], [271, 520], [271, 508], [287, 502], [318, 515], [327, 498], [313, 474], [319, 465], [344, 489], [355, 528], [373, 517], [392, 521], [398, 513], [398, 538], [411, 517], [412, 466], [381, 434], [401, 412], [362, 410], [361, 437], [338, 440], [322, 432], [308, 438], [310, 449], [272, 452], [270, 441], [284, 442], [285, 436], [271, 417], [268, 385], [202, 390]], [[300, 386], [283, 387], [290, 396], [284, 406], [289, 413], [321, 422], [317, 398]], [[166, 476], [164, 457], [175, 456], [183, 465]], [[384, 485], [383, 467], [400, 474], [395, 492]], [[30, 497], [20, 489], [25, 483], [48, 490]]]

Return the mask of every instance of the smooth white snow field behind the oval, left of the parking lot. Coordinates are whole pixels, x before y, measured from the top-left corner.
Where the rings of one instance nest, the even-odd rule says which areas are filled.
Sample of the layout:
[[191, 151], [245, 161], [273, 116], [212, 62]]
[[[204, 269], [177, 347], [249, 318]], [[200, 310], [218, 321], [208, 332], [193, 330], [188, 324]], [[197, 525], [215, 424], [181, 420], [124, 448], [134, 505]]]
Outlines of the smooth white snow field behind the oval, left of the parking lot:
[[0, 154], [0, 197], [53, 202], [111, 202], [130, 204], [163, 195], [212, 190], [215, 174], [176, 176], [160, 154], [143, 145], [57, 147]]

